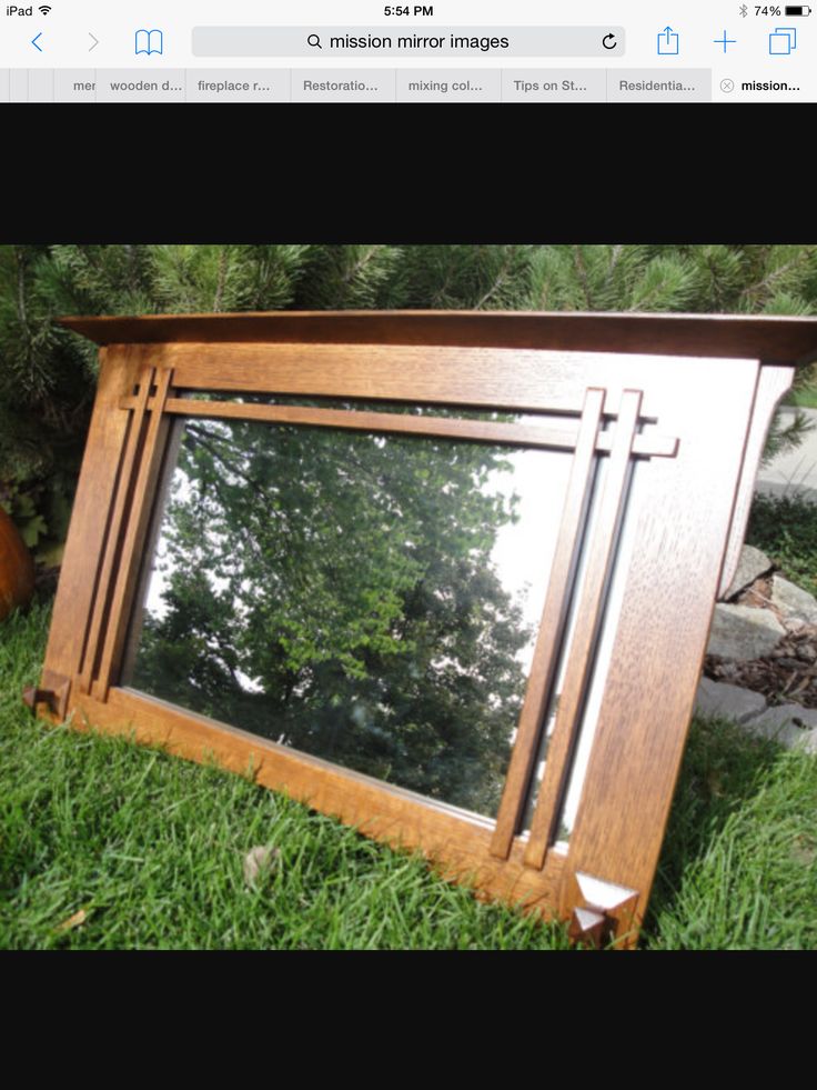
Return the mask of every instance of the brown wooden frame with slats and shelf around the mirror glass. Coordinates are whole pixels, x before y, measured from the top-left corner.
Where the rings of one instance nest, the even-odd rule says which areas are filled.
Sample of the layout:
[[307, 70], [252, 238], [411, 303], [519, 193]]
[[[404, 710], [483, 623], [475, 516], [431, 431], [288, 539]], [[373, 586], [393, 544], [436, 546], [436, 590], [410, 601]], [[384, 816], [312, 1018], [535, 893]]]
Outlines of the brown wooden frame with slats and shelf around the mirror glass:
[[[714, 603], [739, 553], [775, 404], [817, 354], [817, 322], [689, 316], [340, 312], [77, 318], [101, 371], [40, 687], [74, 727], [214, 756], [487, 896], [636, 941]], [[208, 391], [211, 401], [183, 394]], [[549, 413], [539, 423], [249, 404], [235, 392]], [[221, 397], [220, 397], [221, 394]], [[556, 554], [496, 821], [457, 812], [118, 684], [139, 558], [178, 416], [286, 421], [573, 450]], [[606, 459], [593, 532], [593, 467]], [[616, 557], [638, 463], [636, 542]], [[583, 577], [577, 578], [582, 553]], [[608, 609], [614, 581], [623, 588]], [[571, 603], [575, 629], [567, 646]], [[672, 603], [656, 608], [655, 603]], [[608, 661], [599, 666], [601, 647]], [[559, 654], [562, 659], [559, 660]], [[564, 679], [529, 834], [520, 821], [557, 667]], [[601, 672], [599, 672], [601, 671]], [[593, 688], [595, 687], [595, 689]], [[593, 692], [596, 693], [593, 697]], [[555, 821], [582, 723], [573, 834]]]

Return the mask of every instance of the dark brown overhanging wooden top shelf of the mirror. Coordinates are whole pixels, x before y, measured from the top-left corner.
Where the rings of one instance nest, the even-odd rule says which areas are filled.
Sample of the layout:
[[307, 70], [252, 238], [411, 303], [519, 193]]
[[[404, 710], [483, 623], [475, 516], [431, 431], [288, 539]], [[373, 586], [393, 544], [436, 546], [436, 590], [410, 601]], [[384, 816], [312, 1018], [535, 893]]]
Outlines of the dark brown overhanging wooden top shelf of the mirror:
[[60, 322], [98, 344], [445, 344], [744, 358], [800, 366], [817, 359], [817, 318], [778, 316], [322, 310], [62, 318]]

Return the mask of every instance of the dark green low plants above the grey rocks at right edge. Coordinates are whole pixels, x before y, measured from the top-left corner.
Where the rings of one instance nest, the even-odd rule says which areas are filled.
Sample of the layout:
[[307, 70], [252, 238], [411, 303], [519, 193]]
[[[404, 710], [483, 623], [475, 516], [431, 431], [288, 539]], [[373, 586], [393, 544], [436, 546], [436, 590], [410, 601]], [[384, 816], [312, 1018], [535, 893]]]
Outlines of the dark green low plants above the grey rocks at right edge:
[[756, 496], [746, 541], [763, 549], [787, 579], [817, 594], [817, 503]]

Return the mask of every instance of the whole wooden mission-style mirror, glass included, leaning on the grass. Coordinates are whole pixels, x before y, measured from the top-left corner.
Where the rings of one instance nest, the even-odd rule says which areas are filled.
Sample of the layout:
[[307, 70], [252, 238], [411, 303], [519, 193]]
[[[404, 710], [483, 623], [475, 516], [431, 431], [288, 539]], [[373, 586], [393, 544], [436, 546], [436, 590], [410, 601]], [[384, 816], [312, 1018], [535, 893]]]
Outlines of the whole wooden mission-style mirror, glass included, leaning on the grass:
[[714, 603], [817, 322], [75, 318], [101, 371], [29, 702], [636, 941]]

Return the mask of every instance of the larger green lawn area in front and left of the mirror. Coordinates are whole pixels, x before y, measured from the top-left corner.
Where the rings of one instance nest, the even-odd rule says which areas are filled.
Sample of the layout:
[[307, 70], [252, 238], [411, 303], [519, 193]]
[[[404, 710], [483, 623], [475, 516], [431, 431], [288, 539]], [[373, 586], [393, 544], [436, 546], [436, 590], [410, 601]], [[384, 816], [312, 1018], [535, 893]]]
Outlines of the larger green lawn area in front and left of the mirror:
[[[561, 927], [481, 903], [292, 800], [20, 702], [48, 610], [0, 628], [0, 948], [536, 949]], [[242, 861], [280, 848], [256, 888]], [[85, 922], [57, 927], [84, 909]]]

